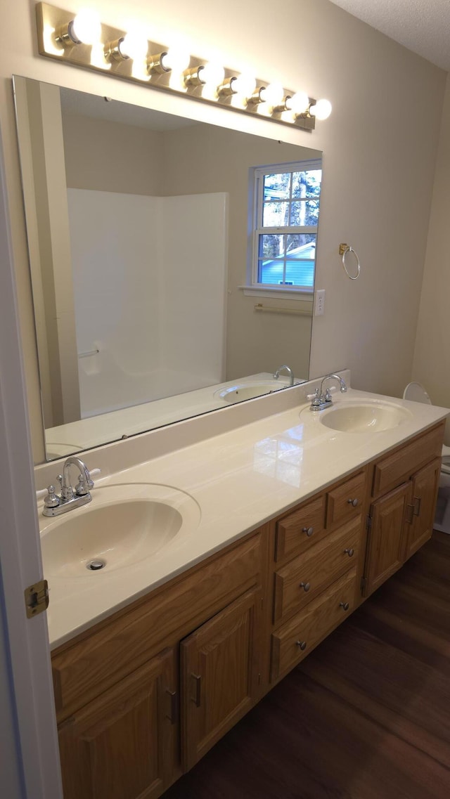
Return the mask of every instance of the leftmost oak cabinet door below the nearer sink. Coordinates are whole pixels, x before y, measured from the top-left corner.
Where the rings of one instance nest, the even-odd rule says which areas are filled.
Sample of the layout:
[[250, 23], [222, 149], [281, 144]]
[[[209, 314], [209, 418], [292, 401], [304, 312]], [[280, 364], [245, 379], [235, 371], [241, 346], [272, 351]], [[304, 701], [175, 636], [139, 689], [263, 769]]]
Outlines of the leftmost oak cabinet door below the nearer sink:
[[165, 650], [59, 728], [64, 799], [154, 799], [173, 777], [173, 650]]

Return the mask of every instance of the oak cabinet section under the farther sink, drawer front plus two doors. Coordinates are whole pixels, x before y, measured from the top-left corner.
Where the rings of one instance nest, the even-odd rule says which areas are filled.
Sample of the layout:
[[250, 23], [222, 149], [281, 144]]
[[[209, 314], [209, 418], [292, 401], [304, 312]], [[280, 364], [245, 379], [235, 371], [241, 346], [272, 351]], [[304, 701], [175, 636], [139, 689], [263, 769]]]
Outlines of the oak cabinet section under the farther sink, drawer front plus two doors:
[[400, 569], [432, 535], [443, 436], [440, 424], [397, 447], [374, 466], [364, 597]]

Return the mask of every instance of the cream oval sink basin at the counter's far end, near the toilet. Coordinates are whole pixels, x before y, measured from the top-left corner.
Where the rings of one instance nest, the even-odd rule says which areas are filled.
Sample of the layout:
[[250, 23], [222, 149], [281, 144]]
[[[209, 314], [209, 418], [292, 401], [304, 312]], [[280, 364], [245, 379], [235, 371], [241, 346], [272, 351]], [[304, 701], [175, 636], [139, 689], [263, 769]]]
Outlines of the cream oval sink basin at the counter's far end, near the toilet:
[[344, 433], [382, 432], [412, 419], [407, 408], [381, 400], [344, 400], [318, 413], [325, 427]]

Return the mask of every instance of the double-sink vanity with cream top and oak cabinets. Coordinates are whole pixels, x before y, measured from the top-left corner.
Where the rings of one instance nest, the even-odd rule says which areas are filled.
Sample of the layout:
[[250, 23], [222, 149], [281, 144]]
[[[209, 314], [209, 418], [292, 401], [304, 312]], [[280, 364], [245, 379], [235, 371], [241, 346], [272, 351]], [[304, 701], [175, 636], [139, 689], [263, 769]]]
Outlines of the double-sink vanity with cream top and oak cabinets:
[[314, 412], [320, 383], [99, 447], [89, 504], [39, 505], [65, 799], [159, 797], [432, 534], [448, 411], [330, 380]]

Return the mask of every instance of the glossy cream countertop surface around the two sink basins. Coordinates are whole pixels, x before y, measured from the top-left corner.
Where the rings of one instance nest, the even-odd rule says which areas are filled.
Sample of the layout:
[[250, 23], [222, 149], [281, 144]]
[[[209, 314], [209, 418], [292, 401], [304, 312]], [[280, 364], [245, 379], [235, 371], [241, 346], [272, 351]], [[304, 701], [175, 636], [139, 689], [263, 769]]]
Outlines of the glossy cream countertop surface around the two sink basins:
[[[82, 577], [52, 578], [46, 574], [44, 559], [50, 588], [51, 648], [432, 427], [450, 412], [355, 389], [333, 393], [334, 407], [358, 399], [392, 403], [409, 414], [397, 427], [385, 431], [338, 432], [325, 427], [320, 413], [313, 414], [305, 403], [98, 480], [98, 487], [126, 483], [175, 487], [197, 503], [200, 521], [189, 535], [181, 535], [181, 530], [148, 559], [122, 569], [86, 570]], [[95, 491], [89, 506], [70, 511], [66, 518], [94, 508]], [[40, 503], [41, 531], [49, 521], [42, 516]]]

